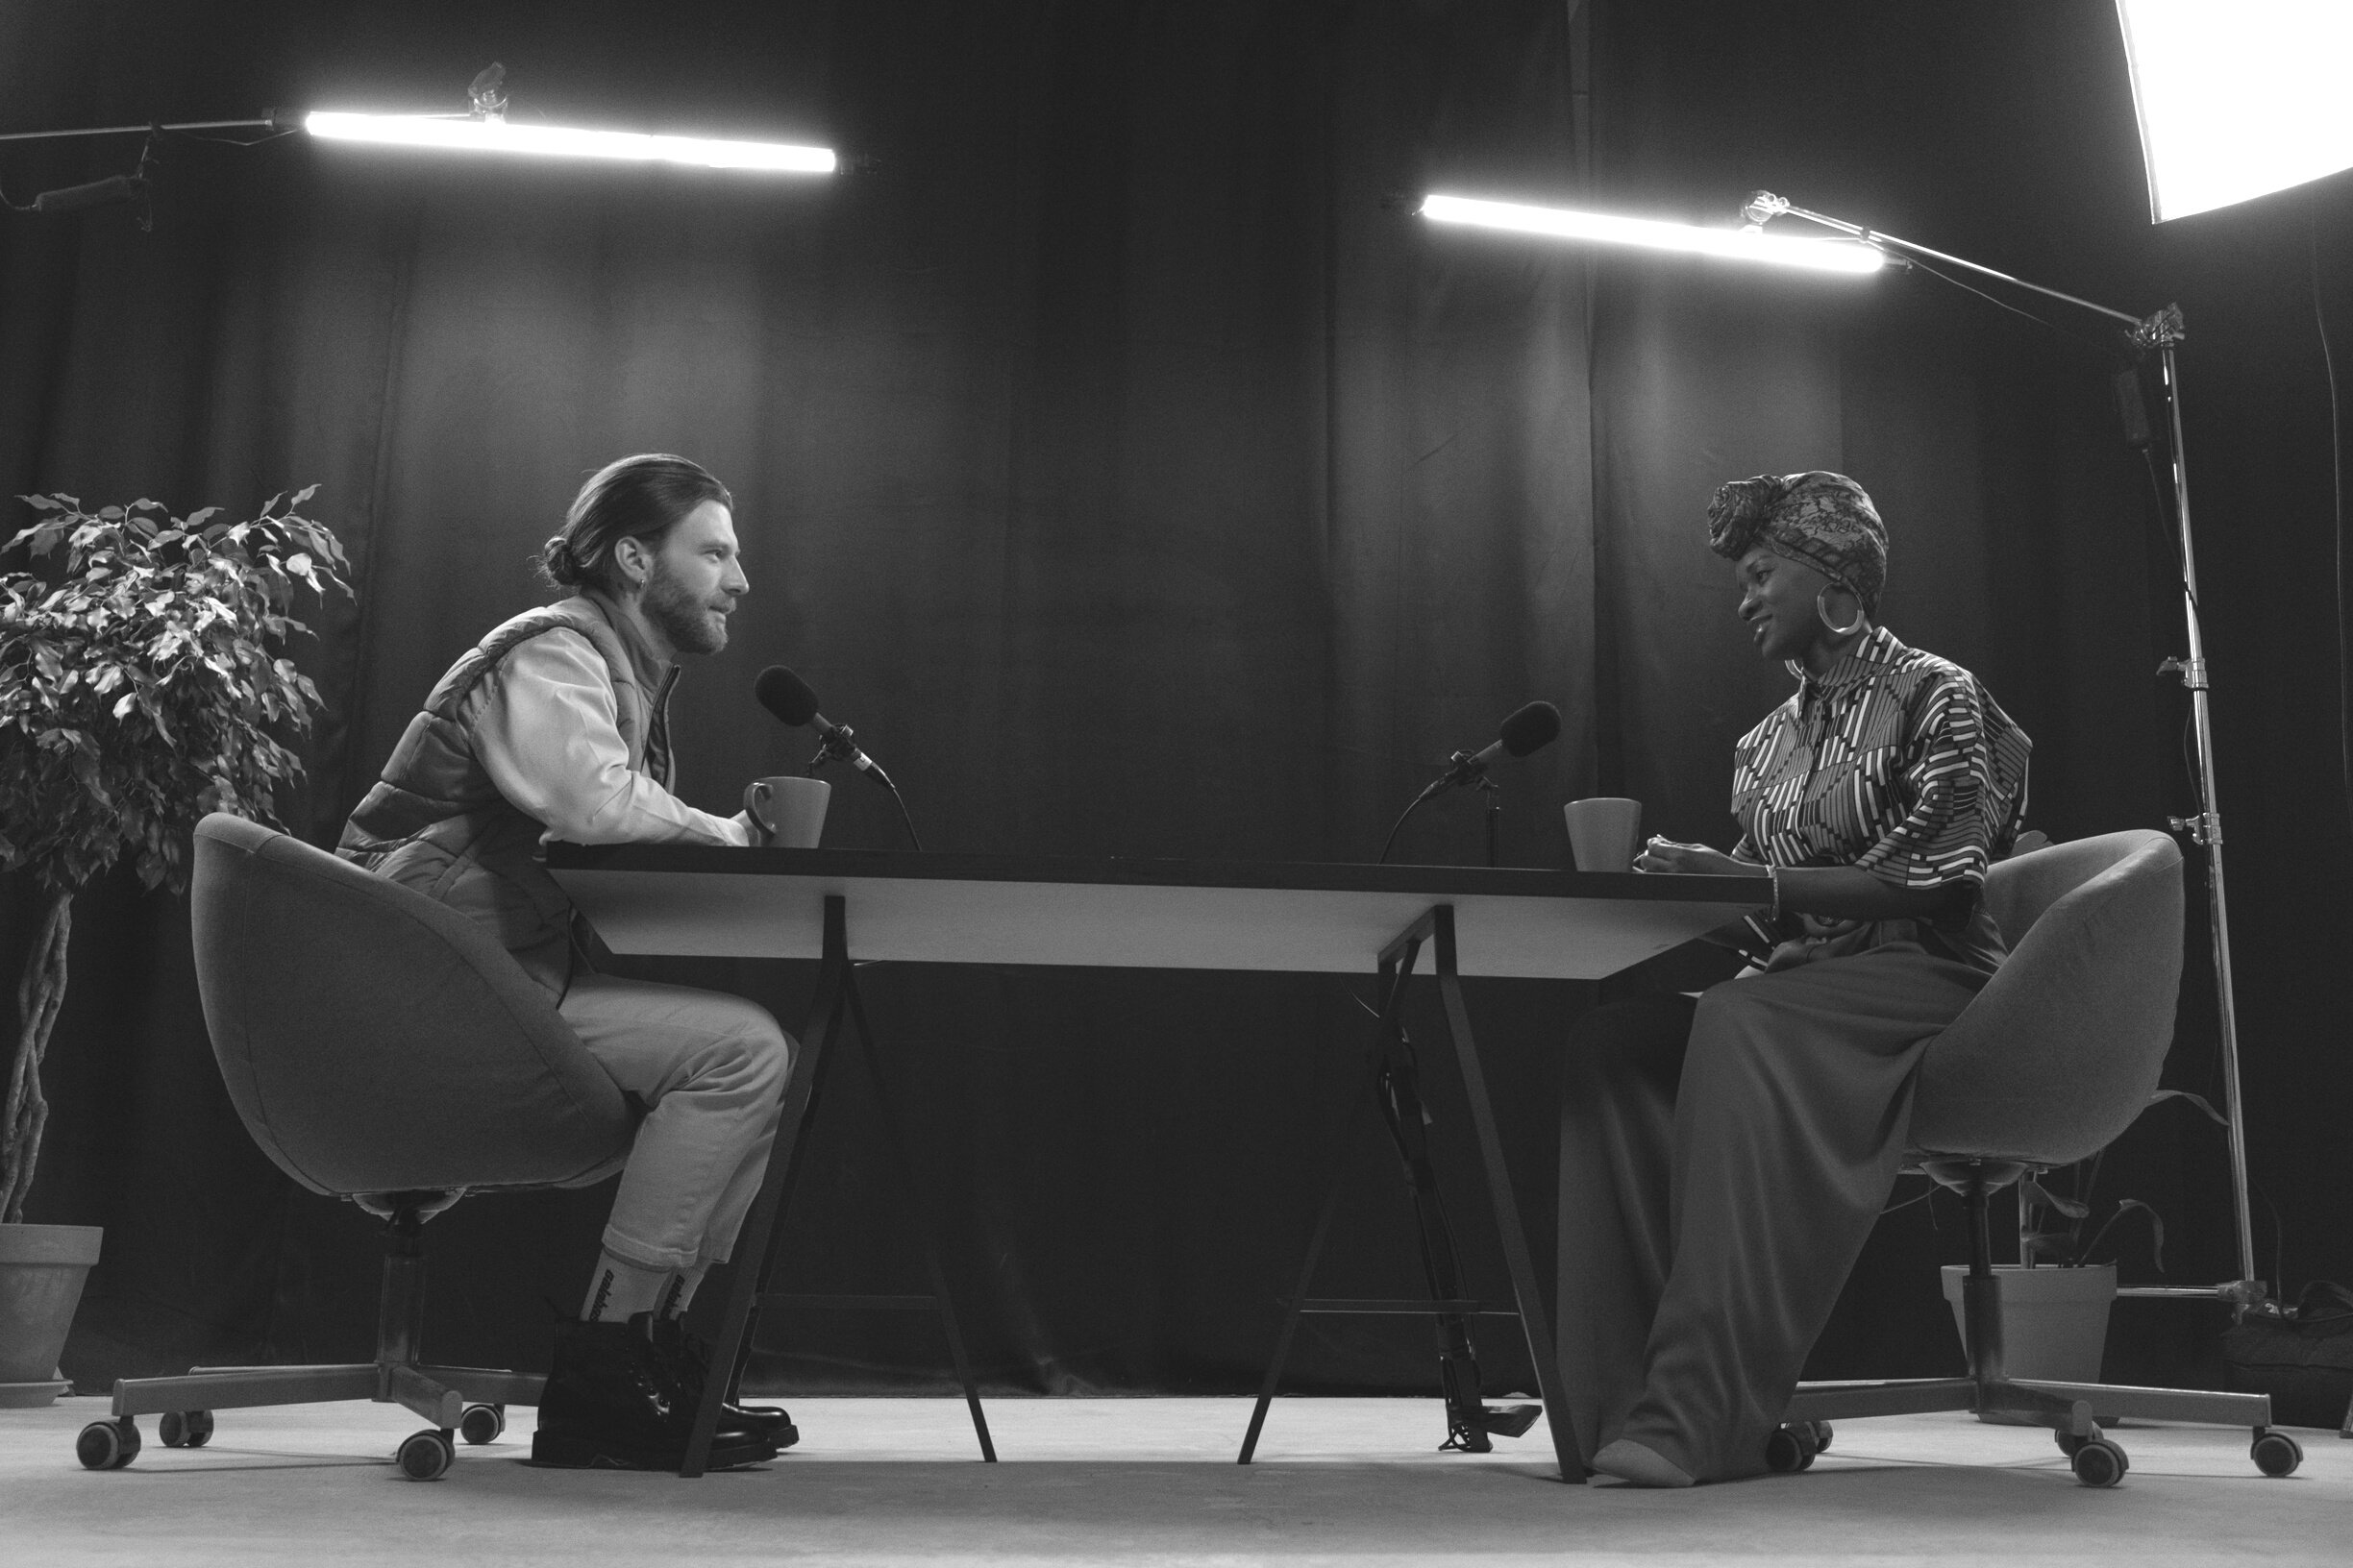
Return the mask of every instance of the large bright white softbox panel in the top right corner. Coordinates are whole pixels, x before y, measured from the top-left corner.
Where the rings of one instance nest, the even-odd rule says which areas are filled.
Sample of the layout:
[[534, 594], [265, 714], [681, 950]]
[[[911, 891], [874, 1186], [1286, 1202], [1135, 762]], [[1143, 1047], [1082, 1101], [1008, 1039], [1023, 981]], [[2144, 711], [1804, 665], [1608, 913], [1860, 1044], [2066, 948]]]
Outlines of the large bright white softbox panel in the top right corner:
[[2115, 0], [2158, 223], [2353, 167], [2346, 0]]

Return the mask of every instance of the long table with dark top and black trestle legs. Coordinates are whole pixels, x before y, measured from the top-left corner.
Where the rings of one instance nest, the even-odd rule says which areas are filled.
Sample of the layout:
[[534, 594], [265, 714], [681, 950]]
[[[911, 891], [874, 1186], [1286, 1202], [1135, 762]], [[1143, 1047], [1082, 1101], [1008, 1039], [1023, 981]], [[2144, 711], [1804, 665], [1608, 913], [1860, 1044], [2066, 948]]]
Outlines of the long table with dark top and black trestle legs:
[[[1478, 1128], [1494, 1208], [1513, 1284], [1513, 1312], [1537, 1366], [1544, 1415], [1562, 1479], [1584, 1479], [1569, 1429], [1560, 1371], [1537, 1293], [1527, 1234], [1504, 1166], [1501, 1140], [1471, 1037], [1461, 978], [1511, 976], [1541, 980], [1600, 980], [1642, 959], [1680, 947], [1758, 905], [1753, 877], [1657, 877], [1553, 870], [1492, 870], [1468, 865], [1315, 865], [1285, 860], [1127, 860], [1054, 856], [925, 856], [852, 849], [722, 849], [704, 844], [551, 844], [548, 870], [572, 896], [602, 943], [616, 954], [816, 959], [819, 983], [802, 1063], [786, 1086], [776, 1147], [746, 1218], [758, 1267], [739, 1265], [729, 1284], [727, 1312], [713, 1352], [713, 1375], [696, 1415], [682, 1476], [701, 1474], [718, 1425], [720, 1401], [734, 1394], [751, 1342], [758, 1302], [769, 1305], [864, 1305], [936, 1309], [948, 1335], [965, 1401], [972, 1410], [981, 1455], [995, 1458], [962, 1352], [936, 1244], [925, 1229], [932, 1295], [913, 1298], [798, 1298], [769, 1295], [774, 1239], [793, 1190], [802, 1133], [824, 1081], [828, 1046], [849, 1025], [868, 1044], [854, 961], [896, 959], [920, 964], [1042, 964], [1042, 966], [1139, 966], [1231, 969], [1289, 973], [1365, 973], [1381, 980], [1381, 1093], [1391, 1131], [1407, 1157], [1424, 1213], [1424, 1258], [1431, 1269], [1428, 1302], [1318, 1302], [1306, 1295], [1322, 1237], [1339, 1206], [1334, 1182], [1301, 1281], [1287, 1300], [1282, 1342], [1275, 1347], [1259, 1406], [1242, 1443], [1242, 1462], [1257, 1446], [1266, 1406], [1282, 1371], [1292, 1331], [1304, 1312], [1424, 1312], [1445, 1333], [1461, 1338], [1464, 1321], [1485, 1309], [1464, 1300], [1452, 1284], [1452, 1241], [1431, 1215], [1435, 1187], [1424, 1192], [1426, 1150], [1419, 1145], [1419, 1100], [1412, 1081], [1386, 1063], [1402, 1046], [1398, 1001], [1424, 950], [1445, 997], [1447, 1032], [1454, 1044], [1471, 1114]], [[880, 1072], [878, 1098], [885, 1098]], [[1400, 1100], [1400, 1093], [1405, 1095]], [[1351, 1124], [1353, 1126], [1353, 1124]], [[896, 1147], [896, 1124], [885, 1098], [885, 1133]], [[901, 1161], [904, 1164], [904, 1161]], [[1442, 1225], [1442, 1222], [1440, 1222]], [[1464, 1338], [1464, 1347], [1468, 1340]], [[732, 1356], [734, 1373], [720, 1356]], [[1449, 1427], [1482, 1432], [1473, 1387], [1454, 1396], [1447, 1375]], [[1508, 1432], [1508, 1427], [1492, 1427]], [[1522, 1422], [1525, 1429], [1525, 1422]], [[1482, 1441], [1482, 1439], [1480, 1439]]]

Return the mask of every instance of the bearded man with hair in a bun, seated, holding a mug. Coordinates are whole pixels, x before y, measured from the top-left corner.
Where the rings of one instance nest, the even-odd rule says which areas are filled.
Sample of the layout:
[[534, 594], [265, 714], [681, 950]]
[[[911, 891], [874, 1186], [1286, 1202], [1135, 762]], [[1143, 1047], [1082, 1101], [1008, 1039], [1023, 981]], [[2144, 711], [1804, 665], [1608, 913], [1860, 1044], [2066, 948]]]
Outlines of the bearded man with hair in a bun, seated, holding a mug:
[[[581, 487], [541, 569], [572, 597], [442, 675], [336, 853], [489, 926], [647, 1105], [579, 1321], [555, 1335], [532, 1458], [675, 1469], [706, 1373], [680, 1316], [758, 1194], [793, 1041], [741, 997], [593, 973], [539, 846], [755, 842], [746, 816], [668, 788], [675, 658], [727, 646], [751, 592], [734, 498], [687, 458], [621, 458]], [[729, 1406], [711, 1465], [798, 1436], [784, 1410]]]

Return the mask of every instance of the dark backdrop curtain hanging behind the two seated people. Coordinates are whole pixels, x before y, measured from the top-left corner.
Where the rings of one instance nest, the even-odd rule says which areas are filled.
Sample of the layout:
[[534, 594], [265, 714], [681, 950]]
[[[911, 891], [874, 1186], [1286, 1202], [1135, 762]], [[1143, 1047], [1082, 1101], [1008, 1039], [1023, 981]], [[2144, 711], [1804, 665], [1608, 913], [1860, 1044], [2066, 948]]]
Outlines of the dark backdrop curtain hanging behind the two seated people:
[[[2257, 1173], [2278, 1267], [2344, 1274], [2325, 1154], [2341, 1025], [2320, 1020], [2344, 1004], [2348, 856], [2301, 294], [2313, 235], [2344, 252], [2341, 183], [2148, 230], [2113, 12], [2092, 0], [1927, 21], [1577, 12], [16, 7], [9, 129], [442, 108], [504, 59], [518, 118], [805, 136], [871, 162], [781, 183], [169, 143], [151, 235], [122, 212], [0, 228], [0, 470], [12, 494], [176, 508], [322, 484], [358, 599], [304, 654], [332, 708], [289, 813], [313, 842], [445, 663], [536, 599], [527, 557], [579, 477], [675, 449], [734, 489], [753, 578], [736, 642], [673, 712], [696, 804], [798, 762], [748, 703], [751, 672], [788, 663], [889, 762], [934, 849], [1369, 858], [1433, 759], [1546, 696], [1567, 731], [1504, 780], [1504, 844], [1548, 865], [1558, 804], [1595, 790], [1725, 842], [1727, 745], [1786, 679], [1737, 639], [1699, 512], [1725, 477], [1842, 468], [1889, 520], [1889, 625], [1988, 677], [2038, 741], [2033, 820], [2073, 837], [2186, 806], [2181, 698], [2148, 679], [2179, 607], [2097, 353], [1922, 277], [1595, 259], [1428, 230], [1384, 195], [1586, 190], [1720, 219], [1772, 186], [2097, 299], [2181, 296]], [[0, 183], [24, 200], [127, 158], [14, 150]], [[831, 844], [896, 835], [887, 802], [838, 783]], [[1471, 802], [1400, 839], [1402, 858], [1475, 853]], [[0, 936], [16, 961], [21, 889]], [[2200, 940], [2169, 1081], [2212, 1088]], [[104, 1222], [108, 1244], [68, 1373], [360, 1349], [372, 1239], [235, 1124], [184, 905], [94, 889], [73, 964], [33, 1218]], [[645, 973], [741, 990], [788, 1025], [807, 1006], [800, 966]], [[988, 1382], [1247, 1387], [1332, 1117], [1360, 1093], [1351, 987], [906, 966], [866, 990]], [[1548, 1058], [1586, 1001], [1473, 997], [1541, 1253]], [[1492, 1288], [1466, 1128], [1431, 1077]], [[798, 1288], [915, 1276], [861, 1093], [840, 1079], [812, 1150]], [[1355, 1166], [1327, 1284], [1412, 1288], [1391, 1161], [1367, 1143]], [[2113, 1166], [2111, 1194], [2172, 1220], [2172, 1279], [2231, 1272], [2202, 1126], [2158, 1112]], [[440, 1354], [536, 1363], [539, 1302], [574, 1300], [602, 1206], [438, 1220]], [[1958, 1361], [1927, 1267], [1958, 1255], [1941, 1225], [1937, 1204], [1882, 1225], [1817, 1371]], [[1301, 1347], [1301, 1387], [1426, 1385], [1421, 1331], [1334, 1324]], [[2125, 1307], [2111, 1373], [2198, 1375], [2212, 1326]], [[1525, 1378], [1504, 1340], [1485, 1347], [1497, 1380]], [[769, 1347], [762, 1371], [793, 1387], [944, 1371], [927, 1324], [809, 1319]]]

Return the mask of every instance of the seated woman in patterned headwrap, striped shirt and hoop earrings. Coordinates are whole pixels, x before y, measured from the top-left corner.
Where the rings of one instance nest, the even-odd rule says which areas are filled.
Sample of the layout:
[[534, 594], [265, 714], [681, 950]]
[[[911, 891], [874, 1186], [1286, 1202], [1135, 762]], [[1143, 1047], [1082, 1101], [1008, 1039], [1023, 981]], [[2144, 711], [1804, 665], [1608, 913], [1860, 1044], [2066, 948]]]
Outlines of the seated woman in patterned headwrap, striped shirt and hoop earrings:
[[1708, 548], [1798, 691], [1734, 750], [1732, 853], [1652, 839], [1635, 870], [1758, 877], [1772, 954], [1588, 1013], [1562, 1100], [1560, 1361], [1588, 1462], [1635, 1486], [1765, 1469], [1913, 1067], [2002, 959], [1979, 889], [2026, 809], [2026, 733], [1873, 625], [1887, 529], [1854, 480], [1734, 480]]

